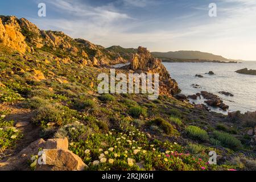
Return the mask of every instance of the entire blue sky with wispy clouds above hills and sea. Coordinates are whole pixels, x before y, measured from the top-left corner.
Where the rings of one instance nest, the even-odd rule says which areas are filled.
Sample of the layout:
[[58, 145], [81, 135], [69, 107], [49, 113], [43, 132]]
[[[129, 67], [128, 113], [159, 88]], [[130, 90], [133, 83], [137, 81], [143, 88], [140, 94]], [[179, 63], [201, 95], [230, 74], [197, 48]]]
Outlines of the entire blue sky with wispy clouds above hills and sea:
[[[38, 16], [39, 3], [46, 4], [46, 17]], [[210, 3], [216, 17], [209, 16]], [[256, 60], [256, 0], [2, 0], [0, 14], [104, 47]]]

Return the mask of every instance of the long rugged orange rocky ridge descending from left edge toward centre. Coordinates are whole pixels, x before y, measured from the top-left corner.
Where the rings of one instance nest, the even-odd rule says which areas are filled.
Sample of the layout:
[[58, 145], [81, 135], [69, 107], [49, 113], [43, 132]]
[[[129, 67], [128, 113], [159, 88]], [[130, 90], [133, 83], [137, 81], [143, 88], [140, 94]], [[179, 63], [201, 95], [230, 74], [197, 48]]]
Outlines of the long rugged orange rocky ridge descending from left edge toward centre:
[[27, 19], [18, 19], [15, 16], [0, 16], [0, 43], [21, 53], [42, 49], [59, 57], [68, 56], [68, 59], [77, 63], [85, 59], [90, 66], [129, 62], [129, 59], [122, 57], [118, 52], [87, 40], [72, 39], [61, 31], [40, 30]]

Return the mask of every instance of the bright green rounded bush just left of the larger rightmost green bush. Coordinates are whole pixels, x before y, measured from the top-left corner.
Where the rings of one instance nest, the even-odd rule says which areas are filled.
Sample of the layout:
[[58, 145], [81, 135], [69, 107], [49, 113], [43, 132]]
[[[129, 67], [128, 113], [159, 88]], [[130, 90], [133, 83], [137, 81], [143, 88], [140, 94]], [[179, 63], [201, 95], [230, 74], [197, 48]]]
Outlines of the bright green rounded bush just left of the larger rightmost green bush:
[[202, 141], [207, 141], [209, 139], [207, 132], [203, 129], [200, 129], [200, 127], [197, 126], [186, 127], [185, 133], [191, 138], [199, 139]]

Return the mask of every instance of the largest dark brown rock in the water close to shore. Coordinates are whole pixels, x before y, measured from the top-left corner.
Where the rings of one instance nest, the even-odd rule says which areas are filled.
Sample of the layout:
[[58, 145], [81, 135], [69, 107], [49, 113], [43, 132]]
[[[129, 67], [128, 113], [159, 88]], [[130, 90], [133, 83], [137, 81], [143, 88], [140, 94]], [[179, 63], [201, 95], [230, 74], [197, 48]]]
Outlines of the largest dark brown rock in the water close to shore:
[[220, 107], [222, 110], [229, 109], [229, 106], [225, 105], [220, 97], [206, 91], [202, 91], [201, 95], [207, 100], [205, 103], [209, 106]]

